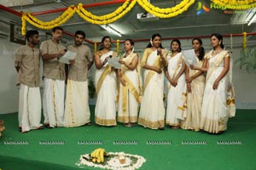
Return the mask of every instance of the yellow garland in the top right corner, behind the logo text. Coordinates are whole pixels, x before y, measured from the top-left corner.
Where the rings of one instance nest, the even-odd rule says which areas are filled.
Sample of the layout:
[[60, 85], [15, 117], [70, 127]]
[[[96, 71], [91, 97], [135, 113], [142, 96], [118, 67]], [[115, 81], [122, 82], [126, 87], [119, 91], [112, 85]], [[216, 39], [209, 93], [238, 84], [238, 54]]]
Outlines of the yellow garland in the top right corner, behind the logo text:
[[255, 8], [256, 7], [256, 1], [255, 0], [212, 0], [212, 3], [215, 3], [219, 6], [224, 6], [226, 8], [230, 9], [249, 9], [249, 8]]

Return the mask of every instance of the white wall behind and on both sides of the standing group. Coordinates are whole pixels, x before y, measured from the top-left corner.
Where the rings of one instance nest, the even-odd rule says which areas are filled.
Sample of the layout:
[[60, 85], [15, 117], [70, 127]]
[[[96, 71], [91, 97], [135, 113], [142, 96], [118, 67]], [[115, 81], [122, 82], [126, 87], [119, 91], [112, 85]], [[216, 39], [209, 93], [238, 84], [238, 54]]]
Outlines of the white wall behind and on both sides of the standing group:
[[[0, 24], [1, 26], [1, 24]], [[149, 38], [149, 37], [148, 37]], [[169, 48], [169, 41], [164, 41], [163, 46]], [[191, 40], [181, 40], [183, 49], [191, 48]], [[209, 38], [203, 39], [204, 47], [208, 51], [211, 49]], [[140, 56], [143, 54], [143, 48], [148, 42], [137, 42], [135, 47]], [[230, 48], [230, 39], [225, 38], [224, 44]], [[240, 57], [242, 38], [233, 38], [233, 58]], [[252, 44], [255, 47], [255, 44]], [[15, 86], [16, 72], [14, 67], [14, 52], [20, 47], [19, 44], [9, 42], [9, 38], [0, 38], [0, 114], [12, 113], [18, 111], [19, 90]], [[123, 45], [121, 44], [121, 48]], [[91, 49], [93, 51], [93, 49]], [[115, 50], [113, 48], [113, 50]], [[94, 71], [90, 71], [93, 75]], [[240, 70], [237, 65], [233, 68], [233, 82], [236, 88], [236, 105], [242, 109], [256, 109], [256, 75], [248, 74], [244, 70]]]

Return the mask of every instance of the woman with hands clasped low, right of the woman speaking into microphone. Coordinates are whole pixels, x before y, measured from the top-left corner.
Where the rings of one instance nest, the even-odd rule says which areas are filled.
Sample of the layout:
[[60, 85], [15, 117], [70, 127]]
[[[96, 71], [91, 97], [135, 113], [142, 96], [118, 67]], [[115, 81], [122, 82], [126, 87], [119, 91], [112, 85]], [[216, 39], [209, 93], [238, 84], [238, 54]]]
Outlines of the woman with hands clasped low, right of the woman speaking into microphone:
[[181, 43], [178, 39], [171, 42], [172, 54], [167, 56], [168, 66], [168, 97], [166, 110], [166, 124], [178, 128], [186, 113], [186, 82], [184, 71], [186, 65], [181, 53]]

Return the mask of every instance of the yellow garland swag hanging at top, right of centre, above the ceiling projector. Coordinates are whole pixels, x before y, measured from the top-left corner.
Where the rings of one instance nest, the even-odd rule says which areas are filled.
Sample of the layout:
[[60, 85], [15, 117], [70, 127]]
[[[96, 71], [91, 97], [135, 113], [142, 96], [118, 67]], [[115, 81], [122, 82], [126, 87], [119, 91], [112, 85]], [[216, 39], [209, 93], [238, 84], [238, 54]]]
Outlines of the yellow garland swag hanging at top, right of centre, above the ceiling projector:
[[137, 0], [137, 3], [139, 3], [139, 5], [148, 13], [154, 14], [159, 18], [172, 18], [186, 11], [193, 3], [195, 3], [195, 0], [183, 0], [172, 8], [158, 8], [151, 3], [148, 3], [147, 0]]

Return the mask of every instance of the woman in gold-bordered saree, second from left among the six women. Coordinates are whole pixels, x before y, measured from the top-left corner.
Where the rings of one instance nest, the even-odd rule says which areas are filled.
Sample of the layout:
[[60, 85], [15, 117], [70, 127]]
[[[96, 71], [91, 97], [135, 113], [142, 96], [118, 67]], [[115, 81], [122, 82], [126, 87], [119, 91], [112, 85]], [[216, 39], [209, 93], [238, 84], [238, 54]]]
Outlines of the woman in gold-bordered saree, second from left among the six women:
[[125, 40], [125, 54], [119, 60], [122, 64], [119, 70], [119, 112], [118, 121], [125, 127], [131, 127], [137, 123], [138, 103], [142, 97], [141, 65], [139, 56], [133, 53], [134, 42]]

